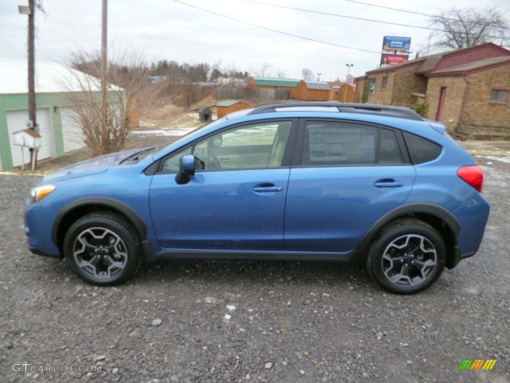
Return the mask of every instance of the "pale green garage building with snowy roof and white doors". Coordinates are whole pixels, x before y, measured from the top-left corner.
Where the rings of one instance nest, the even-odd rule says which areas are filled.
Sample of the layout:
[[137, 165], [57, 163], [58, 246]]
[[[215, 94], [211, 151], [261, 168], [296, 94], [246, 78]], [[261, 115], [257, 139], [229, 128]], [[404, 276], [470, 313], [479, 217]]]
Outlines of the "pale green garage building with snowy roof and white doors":
[[[27, 128], [29, 118], [27, 61], [0, 58], [0, 73], [0, 170], [12, 170], [21, 165], [21, 158], [25, 163], [30, 158], [28, 148], [13, 144], [13, 133]], [[85, 147], [69, 93], [79, 94], [83, 84], [95, 84], [96, 80], [58, 63], [36, 63], [36, 119], [41, 135], [39, 160]], [[99, 97], [99, 89], [95, 91]]]

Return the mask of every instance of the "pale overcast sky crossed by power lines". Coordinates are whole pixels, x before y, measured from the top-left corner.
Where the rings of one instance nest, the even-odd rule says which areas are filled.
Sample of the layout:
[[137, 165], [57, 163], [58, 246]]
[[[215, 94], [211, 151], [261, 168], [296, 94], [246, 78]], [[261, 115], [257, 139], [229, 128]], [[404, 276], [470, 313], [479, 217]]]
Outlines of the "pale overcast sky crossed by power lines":
[[[429, 18], [373, 5], [433, 14], [453, 6], [476, 8], [483, 4], [484, 7], [498, 7], [510, 19], [510, 0], [256, 1], [417, 27], [428, 27]], [[0, 0], [0, 57], [27, 57], [27, 16], [19, 14], [17, 7], [27, 4], [28, 0]], [[42, 6], [45, 14], [36, 12], [37, 60], [65, 62], [78, 49], [100, 50], [101, 0], [42, 0]], [[345, 79], [346, 64], [354, 65], [351, 75], [361, 76], [379, 64], [380, 53], [377, 52], [381, 50], [384, 36], [411, 37], [414, 52], [411, 58], [414, 58], [415, 53], [427, 45], [431, 32], [244, 0], [109, 0], [108, 7], [108, 40], [112, 54], [132, 50], [143, 54], [149, 62], [167, 59], [213, 64], [221, 61], [223, 70], [235, 67], [252, 74], [263, 63], [269, 63], [275, 77], [281, 72], [296, 79], [301, 78], [303, 67], [310, 68], [314, 74], [321, 73], [321, 80]], [[234, 19], [329, 44], [276, 33]], [[0, 81], [1, 76], [6, 74], [0, 75]]]

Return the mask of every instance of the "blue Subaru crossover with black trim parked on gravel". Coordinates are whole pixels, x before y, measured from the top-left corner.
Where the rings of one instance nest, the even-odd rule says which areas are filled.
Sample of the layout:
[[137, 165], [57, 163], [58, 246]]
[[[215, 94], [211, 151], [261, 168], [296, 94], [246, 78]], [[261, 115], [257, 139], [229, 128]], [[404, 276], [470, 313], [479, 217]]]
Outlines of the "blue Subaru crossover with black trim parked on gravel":
[[25, 233], [96, 285], [164, 258], [361, 261], [410, 294], [478, 250], [482, 183], [444, 126], [411, 109], [268, 104], [46, 175]]

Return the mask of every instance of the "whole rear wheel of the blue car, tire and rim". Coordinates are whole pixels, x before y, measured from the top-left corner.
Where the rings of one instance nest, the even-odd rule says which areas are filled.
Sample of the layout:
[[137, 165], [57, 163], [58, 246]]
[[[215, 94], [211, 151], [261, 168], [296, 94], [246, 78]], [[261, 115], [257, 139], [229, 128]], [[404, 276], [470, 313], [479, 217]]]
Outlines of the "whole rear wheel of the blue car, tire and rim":
[[367, 270], [385, 290], [414, 294], [427, 289], [444, 270], [446, 246], [432, 226], [402, 219], [385, 226], [370, 247]]

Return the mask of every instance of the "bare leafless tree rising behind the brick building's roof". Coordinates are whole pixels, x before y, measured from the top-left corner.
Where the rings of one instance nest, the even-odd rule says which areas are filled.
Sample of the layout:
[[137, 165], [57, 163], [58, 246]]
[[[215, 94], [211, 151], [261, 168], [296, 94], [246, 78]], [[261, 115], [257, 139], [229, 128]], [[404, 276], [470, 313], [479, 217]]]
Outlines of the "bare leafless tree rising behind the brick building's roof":
[[444, 52], [485, 42], [504, 45], [508, 42], [508, 20], [496, 8], [451, 8], [431, 19], [432, 33], [428, 50]]

